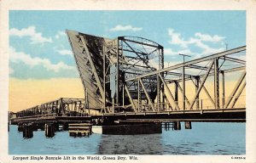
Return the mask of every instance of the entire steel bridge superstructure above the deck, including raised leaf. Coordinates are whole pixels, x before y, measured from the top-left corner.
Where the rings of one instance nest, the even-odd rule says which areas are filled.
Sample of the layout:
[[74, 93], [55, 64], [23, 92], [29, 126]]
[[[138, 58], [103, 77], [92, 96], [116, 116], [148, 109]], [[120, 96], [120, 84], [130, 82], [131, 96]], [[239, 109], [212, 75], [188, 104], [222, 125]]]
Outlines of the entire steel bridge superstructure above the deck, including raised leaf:
[[18, 117], [169, 115], [189, 110], [246, 108], [245, 96], [241, 95], [246, 89], [246, 60], [241, 59], [246, 46], [166, 67], [164, 48], [146, 38], [109, 39], [78, 31], [67, 31], [67, 36], [84, 86], [84, 98], [60, 98], [22, 110]]

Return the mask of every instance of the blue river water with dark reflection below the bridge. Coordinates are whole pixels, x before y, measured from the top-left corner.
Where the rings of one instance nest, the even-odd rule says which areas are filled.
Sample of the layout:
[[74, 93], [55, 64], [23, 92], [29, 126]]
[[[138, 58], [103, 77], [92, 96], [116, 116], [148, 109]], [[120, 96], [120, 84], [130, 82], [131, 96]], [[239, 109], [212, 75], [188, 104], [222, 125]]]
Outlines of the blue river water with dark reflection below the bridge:
[[44, 131], [22, 138], [10, 126], [9, 155], [245, 155], [245, 123], [192, 123], [192, 130], [148, 135], [69, 137], [67, 131], [45, 138]]

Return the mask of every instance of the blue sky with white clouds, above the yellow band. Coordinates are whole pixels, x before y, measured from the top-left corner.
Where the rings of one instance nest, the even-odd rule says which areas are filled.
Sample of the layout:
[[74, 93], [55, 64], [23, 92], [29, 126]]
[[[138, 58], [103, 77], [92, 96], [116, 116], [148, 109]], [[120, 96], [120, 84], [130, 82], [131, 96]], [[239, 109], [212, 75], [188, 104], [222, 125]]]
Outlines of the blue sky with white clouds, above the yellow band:
[[[10, 11], [9, 71], [19, 79], [79, 77], [65, 30], [99, 37], [145, 37], [166, 63], [246, 45], [245, 11]], [[242, 58], [242, 57], [241, 57]], [[167, 65], [167, 64], [166, 64]]]

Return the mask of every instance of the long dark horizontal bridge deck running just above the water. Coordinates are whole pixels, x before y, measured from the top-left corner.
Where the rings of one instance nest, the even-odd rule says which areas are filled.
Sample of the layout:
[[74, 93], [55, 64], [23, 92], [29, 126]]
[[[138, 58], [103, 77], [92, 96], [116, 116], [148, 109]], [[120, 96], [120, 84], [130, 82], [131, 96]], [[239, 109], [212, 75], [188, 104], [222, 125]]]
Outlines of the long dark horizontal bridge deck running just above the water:
[[129, 121], [223, 121], [223, 122], [245, 122], [246, 108], [219, 109], [219, 110], [176, 110], [163, 112], [127, 112], [127, 113], [105, 113], [87, 116], [56, 116], [56, 115], [34, 115], [12, 119], [12, 123], [19, 122], [85, 122], [97, 118], [106, 117], [108, 120]]

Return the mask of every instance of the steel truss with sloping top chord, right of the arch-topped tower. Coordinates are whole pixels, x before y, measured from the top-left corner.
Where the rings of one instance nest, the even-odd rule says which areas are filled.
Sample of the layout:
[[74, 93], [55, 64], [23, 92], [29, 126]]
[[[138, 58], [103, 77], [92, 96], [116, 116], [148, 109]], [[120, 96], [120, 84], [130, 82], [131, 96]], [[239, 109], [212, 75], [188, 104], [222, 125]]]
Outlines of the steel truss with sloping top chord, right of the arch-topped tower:
[[[150, 107], [151, 105], [157, 106], [157, 108], [161, 107], [163, 108], [163, 110], [166, 110], [166, 111], [181, 110], [182, 108], [181, 106], [183, 106], [183, 102], [181, 102], [181, 100], [178, 100], [177, 90], [183, 93], [183, 88], [180, 87], [180, 84], [179, 84], [179, 82], [183, 82], [183, 81], [186, 81], [186, 82], [191, 81], [195, 86], [194, 96], [189, 97], [189, 95], [186, 95], [186, 94], [184, 95], [185, 97], [184, 100], [186, 103], [185, 110], [207, 109], [208, 106], [207, 108], [204, 108], [206, 105], [204, 103], [206, 101], [208, 101], [208, 103], [211, 104], [213, 109], [232, 109], [234, 107], [245, 108], [245, 97], [243, 97], [243, 100], [244, 100], [243, 104], [241, 105], [238, 104], [236, 106], [237, 100], [241, 97], [241, 93], [246, 87], [246, 81], [245, 81], [246, 61], [242, 59], [236, 59], [236, 54], [243, 53], [243, 52], [246, 52], [245, 46], [240, 48], [230, 49], [222, 53], [215, 53], [207, 57], [203, 57], [201, 59], [190, 60], [188, 62], [185, 62], [184, 64], [172, 65], [164, 69], [154, 70], [152, 72], [148, 72], [141, 76], [131, 77], [125, 80], [125, 82], [143, 81], [143, 78], [148, 78], [149, 76], [157, 76], [157, 78], [160, 79], [158, 80], [158, 83], [159, 82], [163, 83], [161, 87], [158, 87], [159, 92], [162, 94], [167, 93], [167, 96], [165, 95], [166, 100], [165, 102], [160, 103], [159, 100], [157, 99], [156, 101], [153, 101], [148, 105]], [[208, 64], [202, 65], [202, 63], [205, 63], [205, 62], [208, 62]], [[225, 67], [225, 66], [228, 66], [228, 67]], [[185, 67], [185, 71], [186, 71], [186, 73], [184, 73], [184, 76], [183, 76], [183, 73], [180, 72], [183, 67]], [[199, 74], [189, 73], [189, 70], [192, 70], [192, 69], [200, 70], [200, 73]], [[241, 77], [238, 79], [236, 86], [231, 91], [230, 96], [225, 97], [225, 92], [227, 91], [225, 88], [225, 81], [224, 81], [225, 74], [228, 74], [228, 73], [232, 74], [232, 72], [241, 73]], [[164, 74], [164, 76], [160, 77], [161, 74]], [[212, 82], [213, 93], [209, 92], [206, 86], [207, 78], [209, 78], [210, 76], [214, 76], [213, 82]], [[220, 81], [220, 79], [222, 79], [222, 81]], [[222, 83], [220, 84], [220, 82]], [[172, 83], [175, 84], [174, 90], [172, 90], [171, 88]], [[143, 87], [143, 82], [141, 82], [140, 85]], [[222, 87], [221, 92], [220, 92], [220, 86]], [[165, 88], [165, 90], [164, 91], [161, 90], [162, 88]], [[203, 95], [203, 97], [201, 97], [201, 90], [204, 90], [205, 92], [205, 95]], [[159, 106], [159, 104], [161, 106]], [[133, 107], [136, 107], [136, 106], [133, 106]], [[137, 110], [135, 109], [135, 111]]]

